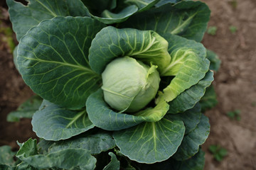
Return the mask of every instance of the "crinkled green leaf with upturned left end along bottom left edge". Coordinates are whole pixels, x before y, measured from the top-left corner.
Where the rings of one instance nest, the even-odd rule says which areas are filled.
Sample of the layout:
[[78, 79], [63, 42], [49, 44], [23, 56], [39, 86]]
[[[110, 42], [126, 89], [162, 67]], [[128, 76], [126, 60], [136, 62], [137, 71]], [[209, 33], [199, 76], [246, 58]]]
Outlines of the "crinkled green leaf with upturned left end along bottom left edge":
[[96, 159], [86, 149], [63, 149], [50, 154], [38, 154], [36, 140], [28, 140], [20, 146], [16, 157], [38, 169], [60, 168], [82, 170], [95, 168]]

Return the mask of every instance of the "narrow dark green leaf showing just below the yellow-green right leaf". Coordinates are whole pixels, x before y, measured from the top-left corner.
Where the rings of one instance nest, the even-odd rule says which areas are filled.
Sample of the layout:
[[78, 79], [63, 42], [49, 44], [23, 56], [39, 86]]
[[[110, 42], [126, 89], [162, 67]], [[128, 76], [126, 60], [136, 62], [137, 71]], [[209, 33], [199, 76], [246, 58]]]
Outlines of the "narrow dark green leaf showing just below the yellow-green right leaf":
[[176, 114], [183, 113], [184, 111], [193, 108], [198, 101], [203, 97], [206, 87], [210, 86], [213, 81], [213, 72], [207, 72], [206, 77], [201, 79], [198, 84], [191, 86], [173, 101], [169, 102], [170, 109], [168, 113]]

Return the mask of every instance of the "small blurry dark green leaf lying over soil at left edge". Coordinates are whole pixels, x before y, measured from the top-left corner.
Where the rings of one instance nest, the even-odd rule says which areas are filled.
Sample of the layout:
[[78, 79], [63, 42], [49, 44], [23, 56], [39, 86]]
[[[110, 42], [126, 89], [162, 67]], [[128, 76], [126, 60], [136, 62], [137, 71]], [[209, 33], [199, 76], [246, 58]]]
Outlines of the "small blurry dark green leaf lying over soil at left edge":
[[18, 122], [20, 118], [32, 118], [33, 114], [38, 111], [43, 99], [40, 96], [33, 96], [18, 106], [16, 111], [7, 115], [7, 121]]

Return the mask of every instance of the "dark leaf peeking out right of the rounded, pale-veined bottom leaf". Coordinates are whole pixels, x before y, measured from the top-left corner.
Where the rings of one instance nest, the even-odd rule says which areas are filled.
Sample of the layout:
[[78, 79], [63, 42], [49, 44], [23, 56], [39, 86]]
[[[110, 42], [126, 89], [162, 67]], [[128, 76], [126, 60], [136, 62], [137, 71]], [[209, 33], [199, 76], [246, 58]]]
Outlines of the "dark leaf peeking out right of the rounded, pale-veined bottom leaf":
[[198, 152], [199, 146], [206, 142], [209, 133], [209, 120], [205, 115], [202, 115], [196, 129], [184, 136], [181, 146], [178, 147], [177, 152], [174, 154], [174, 159], [183, 161], [193, 157]]

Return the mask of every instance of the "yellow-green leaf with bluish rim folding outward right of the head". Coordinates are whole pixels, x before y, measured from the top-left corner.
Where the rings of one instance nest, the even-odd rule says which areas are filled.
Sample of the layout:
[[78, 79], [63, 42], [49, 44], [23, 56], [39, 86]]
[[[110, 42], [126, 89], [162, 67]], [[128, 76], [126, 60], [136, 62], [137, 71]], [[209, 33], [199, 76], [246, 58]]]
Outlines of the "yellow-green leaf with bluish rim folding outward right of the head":
[[201, 43], [170, 33], [165, 34], [164, 38], [169, 42], [171, 62], [160, 75], [175, 77], [160, 97], [169, 102], [203, 79], [210, 62], [206, 59], [206, 49]]

